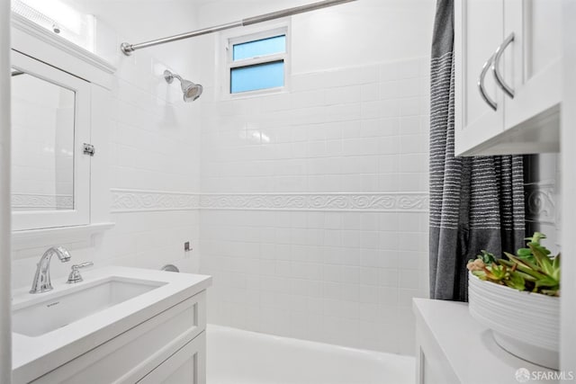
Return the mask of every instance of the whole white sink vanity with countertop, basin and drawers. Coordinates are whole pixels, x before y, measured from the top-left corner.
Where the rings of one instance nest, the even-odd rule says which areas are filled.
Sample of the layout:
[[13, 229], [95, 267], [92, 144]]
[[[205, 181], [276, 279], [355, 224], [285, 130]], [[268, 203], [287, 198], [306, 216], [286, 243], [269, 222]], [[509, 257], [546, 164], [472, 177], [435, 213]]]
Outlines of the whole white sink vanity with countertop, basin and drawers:
[[83, 274], [44, 294], [15, 291], [14, 384], [205, 383], [210, 276], [120, 266]]

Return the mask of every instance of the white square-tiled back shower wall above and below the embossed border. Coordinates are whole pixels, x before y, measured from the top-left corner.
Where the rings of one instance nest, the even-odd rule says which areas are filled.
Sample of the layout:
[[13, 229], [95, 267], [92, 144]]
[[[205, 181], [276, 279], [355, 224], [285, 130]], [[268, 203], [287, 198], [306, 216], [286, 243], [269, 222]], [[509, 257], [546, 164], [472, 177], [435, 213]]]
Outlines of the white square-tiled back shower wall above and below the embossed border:
[[[202, 99], [202, 193], [428, 192], [428, 59], [293, 76]], [[249, 208], [249, 207], [248, 207]], [[428, 213], [202, 210], [209, 321], [413, 353]]]

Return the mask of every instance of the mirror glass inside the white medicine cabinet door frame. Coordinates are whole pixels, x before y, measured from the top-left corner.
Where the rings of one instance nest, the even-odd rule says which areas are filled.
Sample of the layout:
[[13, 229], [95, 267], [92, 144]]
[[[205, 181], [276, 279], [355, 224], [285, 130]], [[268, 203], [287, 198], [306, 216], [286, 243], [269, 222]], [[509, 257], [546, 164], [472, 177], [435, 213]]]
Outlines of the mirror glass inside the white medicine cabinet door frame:
[[12, 69], [12, 209], [74, 210], [76, 93]]

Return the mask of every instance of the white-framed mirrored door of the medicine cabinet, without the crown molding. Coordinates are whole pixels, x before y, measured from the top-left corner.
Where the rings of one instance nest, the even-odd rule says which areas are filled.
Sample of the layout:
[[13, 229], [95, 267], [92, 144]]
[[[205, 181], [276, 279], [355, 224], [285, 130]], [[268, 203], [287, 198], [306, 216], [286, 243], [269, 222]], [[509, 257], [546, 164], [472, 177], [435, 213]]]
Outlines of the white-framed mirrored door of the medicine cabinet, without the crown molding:
[[12, 54], [14, 230], [88, 223], [89, 83]]

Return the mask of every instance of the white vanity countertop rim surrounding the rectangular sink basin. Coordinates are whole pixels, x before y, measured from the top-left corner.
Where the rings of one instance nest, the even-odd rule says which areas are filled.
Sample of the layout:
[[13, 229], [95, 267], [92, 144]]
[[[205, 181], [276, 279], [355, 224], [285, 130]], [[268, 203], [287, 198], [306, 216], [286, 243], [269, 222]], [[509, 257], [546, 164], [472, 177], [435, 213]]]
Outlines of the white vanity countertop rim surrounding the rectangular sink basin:
[[[42, 301], [48, 297], [46, 295], [62, 297], [73, 290], [81, 290], [83, 286], [94, 285], [111, 277], [126, 281], [152, 281], [157, 288], [43, 335], [13, 333], [15, 382], [34, 380], [211, 285], [211, 277], [206, 275], [116, 266], [83, 271], [82, 274], [84, 281], [76, 284], [52, 281], [54, 290], [45, 294], [30, 294], [29, 289], [15, 290], [13, 308]], [[38, 321], [42, 321], [42, 318]]]

